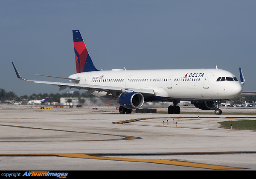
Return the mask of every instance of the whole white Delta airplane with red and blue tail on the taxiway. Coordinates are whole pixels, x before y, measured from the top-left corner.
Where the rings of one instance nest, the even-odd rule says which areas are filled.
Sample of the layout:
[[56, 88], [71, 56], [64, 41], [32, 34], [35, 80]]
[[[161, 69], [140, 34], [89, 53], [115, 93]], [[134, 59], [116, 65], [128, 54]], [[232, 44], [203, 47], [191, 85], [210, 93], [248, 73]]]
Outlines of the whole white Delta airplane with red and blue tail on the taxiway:
[[[99, 71], [93, 65], [79, 30], [73, 30], [76, 59], [76, 74], [69, 78], [52, 77], [69, 80], [71, 83], [34, 81], [21, 78], [14, 66], [17, 78], [40, 84], [51, 84], [64, 90], [69, 87], [85, 90], [86, 95], [96, 95], [116, 100], [119, 113], [131, 113], [144, 102], [172, 101], [168, 107], [169, 114], [179, 114], [180, 101], [191, 101], [201, 110], [215, 110], [221, 114], [221, 100], [236, 98], [242, 92], [241, 84], [232, 73], [218, 69], [153, 69], [126, 70], [112, 69]], [[40, 75], [46, 76], [46, 75]]]

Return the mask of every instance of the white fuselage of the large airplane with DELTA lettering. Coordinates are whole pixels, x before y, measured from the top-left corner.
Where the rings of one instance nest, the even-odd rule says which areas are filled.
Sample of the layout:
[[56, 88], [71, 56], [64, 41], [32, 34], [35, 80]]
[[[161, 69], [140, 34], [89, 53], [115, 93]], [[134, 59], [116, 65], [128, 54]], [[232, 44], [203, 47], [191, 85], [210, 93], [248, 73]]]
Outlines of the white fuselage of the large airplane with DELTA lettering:
[[[220, 77], [225, 80], [218, 81]], [[227, 100], [242, 92], [235, 75], [221, 69], [113, 69], [81, 72], [69, 78], [80, 79], [80, 84], [154, 90], [155, 95], [145, 101]], [[107, 92], [93, 95], [106, 96]]]

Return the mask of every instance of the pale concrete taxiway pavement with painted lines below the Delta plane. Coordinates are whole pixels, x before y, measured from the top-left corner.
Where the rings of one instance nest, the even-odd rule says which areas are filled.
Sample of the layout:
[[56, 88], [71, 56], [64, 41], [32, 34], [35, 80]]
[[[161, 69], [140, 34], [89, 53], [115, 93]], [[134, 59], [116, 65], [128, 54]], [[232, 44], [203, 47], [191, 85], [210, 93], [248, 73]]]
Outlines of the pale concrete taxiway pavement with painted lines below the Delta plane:
[[115, 107], [20, 105], [0, 105], [0, 113], [1, 170], [256, 170], [256, 131], [218, 124], [256, 115], [121, 115]]

